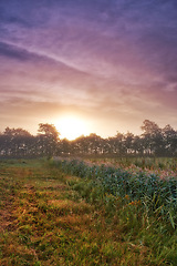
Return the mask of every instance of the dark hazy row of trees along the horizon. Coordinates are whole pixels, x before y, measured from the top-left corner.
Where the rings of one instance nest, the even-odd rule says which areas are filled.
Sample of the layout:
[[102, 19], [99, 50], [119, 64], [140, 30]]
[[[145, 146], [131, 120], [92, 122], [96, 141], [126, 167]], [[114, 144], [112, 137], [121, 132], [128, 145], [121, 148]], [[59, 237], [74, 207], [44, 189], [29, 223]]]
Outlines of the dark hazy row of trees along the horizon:
[[169, 124], [160, 129], [155, 122], [145, 120], [140, 129], [140, 135], [117, 132], [115, 136], [102, 139], [92, 133], [69, 141], [60, 140], [60, 133], [52, 124], [40, 123], [37, 135], [23, 129], [7, 127], [0, 133], [0, 157], [177, 156], [177, 131]]

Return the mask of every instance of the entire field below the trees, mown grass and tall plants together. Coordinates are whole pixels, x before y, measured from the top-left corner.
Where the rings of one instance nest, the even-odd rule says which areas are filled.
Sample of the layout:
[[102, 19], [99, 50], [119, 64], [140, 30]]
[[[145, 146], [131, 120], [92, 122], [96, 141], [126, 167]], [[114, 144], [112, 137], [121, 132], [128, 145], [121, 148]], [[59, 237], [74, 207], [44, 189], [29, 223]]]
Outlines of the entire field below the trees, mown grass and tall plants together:
[[177, 265], [175, 158], [0, 162], [0, 265]]

